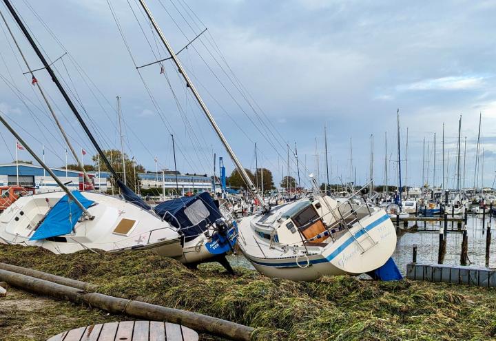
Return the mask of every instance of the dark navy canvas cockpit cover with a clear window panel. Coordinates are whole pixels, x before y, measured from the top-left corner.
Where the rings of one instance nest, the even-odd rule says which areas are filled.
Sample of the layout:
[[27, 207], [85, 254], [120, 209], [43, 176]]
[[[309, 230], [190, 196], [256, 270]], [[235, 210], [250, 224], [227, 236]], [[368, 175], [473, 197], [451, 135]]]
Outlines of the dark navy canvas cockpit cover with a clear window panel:
[[207, 229], [207, 225], [222, 218], [214, 200], [207, 192], [198, 196], [183, 196], [167, 200], [157, 205], [154, 210], [158, 216], [180, 229], [186, 241], [194, 239]]

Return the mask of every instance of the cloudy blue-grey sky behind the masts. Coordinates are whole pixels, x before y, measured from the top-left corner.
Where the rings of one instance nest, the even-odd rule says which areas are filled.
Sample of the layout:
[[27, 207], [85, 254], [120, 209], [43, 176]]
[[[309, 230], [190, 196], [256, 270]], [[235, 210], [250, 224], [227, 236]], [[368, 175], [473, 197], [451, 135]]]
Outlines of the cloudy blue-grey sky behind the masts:
[[[172, 62], [162, 63], [163, 73], [159, 63], [136, 70], [168, 56], [136, 0], [12, 3], [54, 62], [102, 147], [120, 148], [116, 114], [120, 96], [125, 152], [147, 169], [154, 171], [154, 158], [159, 168], [174, 167], [170, 134], [180, 172], [211, 174], [214, 153], [223, 156], [228, 174], [234, 169]], [[444, 123], [446, 185], [455, 187], [462, 115], [461, 183], [465, 180], [471, 187], [475, 178], [479, 185], [493, 185], [494, 1], [147, 3], [176, 52], [207, 28], [178, 54], [180, 61], [242, 164], [255, 168], [257, 143], [258, 167], [270, 169], [276, 185], [288, 171], [287, 145], [292, 176], [298, 178], [296, 145], [301, 184], [309, 185], [310, 173], [325, 180], [324, 126], [331, 183], [354, 180], [355, 169], [358, 183], [371, 177], [371, 136], [375, 183], [384, 183], [385, 163], [388, 183], [396, 183], [398, 109], [403, 183], [442, 183]], [[0, 11], [8, 14], [3, 4]], [[10, 15], [6, 17], [31, 69], [41, 68], [19, 28]], [[0, 112], [39, 154], [45, 145], [50, 165], [61, 167], [65, 164], [61, 136], [31, 85], [31, 76], [23, 76], [27, 68], [3, 22], [1, 28]], [[94, 154], [48, 74], [44, 70], [35, 74], [76, 149]], [[475, 174], [479, 114], [481, 161]], [[14, 138], [3, 127], [0, 134], [0, 163], [9, 163]], [[24, 151], [19, 158], [32, 159]], [[83, 160], [91, 162], [88, 156]]]

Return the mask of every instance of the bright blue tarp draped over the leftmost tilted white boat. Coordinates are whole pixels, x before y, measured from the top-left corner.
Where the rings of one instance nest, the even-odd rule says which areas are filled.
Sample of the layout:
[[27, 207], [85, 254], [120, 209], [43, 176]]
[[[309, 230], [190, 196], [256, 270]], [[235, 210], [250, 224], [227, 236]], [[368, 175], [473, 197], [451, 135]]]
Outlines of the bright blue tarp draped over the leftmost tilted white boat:
[[[93, 204], [92, 200], [85, 198], [79, 191], [72, 192], [72, 195], [75, 196], [85, 208], [88, 208]], [[48, 211], [45, 219], [38, 229], [34, 231], [30, 240], [39, 240], [70, 234], [82, 214], [83, 211], [81, 208], [65, 194], [65, 196]]]

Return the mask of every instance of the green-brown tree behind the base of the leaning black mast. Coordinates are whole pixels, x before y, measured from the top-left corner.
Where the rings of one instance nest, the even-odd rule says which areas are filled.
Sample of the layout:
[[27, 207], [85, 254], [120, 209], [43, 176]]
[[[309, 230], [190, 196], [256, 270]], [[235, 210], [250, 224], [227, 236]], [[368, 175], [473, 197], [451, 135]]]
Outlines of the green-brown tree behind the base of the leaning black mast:
[[[112, 168], [114, 168], [115, 172], [119, 176], [119, 178], [124, 180], [124, 172], [123, 172], [123, 158], [121, 151], [118, 149], [107, 149], [103, 150], [103, 154], [107, 156], [107, 160], [109, 161]], [[109, 172], [107, 165], [103, 163], [102, 158], [99, 158], [99, 155], [96, 154], [92, 156], [92, 160], [94, 162], [94, 170], [99, 169], [99, 160], [100, 160], [100, 171], [101, 172]], [[138, 186], [140, 186], [140, 178], [138, 176], [139, 173], [145, 172], [145, 167], [142, 165], [134, 165], [133, 169], [133, 161], [132, 159], [124, 153], [124, 161], [125, 161], [125, 169], [126, 169], [126, 179], [127, 179], [127, 187], [130, 187], [135, 193], [138, 192]], [[136, 178], [134, 177], [136, 174]], [[114, 179], [111, 179], [112, 185], [114, 185]]]

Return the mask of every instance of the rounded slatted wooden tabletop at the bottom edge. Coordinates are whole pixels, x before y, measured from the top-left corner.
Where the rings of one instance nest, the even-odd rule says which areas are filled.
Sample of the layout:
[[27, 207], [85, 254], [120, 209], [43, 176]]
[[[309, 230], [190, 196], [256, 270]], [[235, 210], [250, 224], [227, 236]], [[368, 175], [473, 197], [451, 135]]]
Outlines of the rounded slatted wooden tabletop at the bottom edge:
[[125, 321], [65, 331], [48, 341], [198, 341], [196, 331], [179, 324]]

